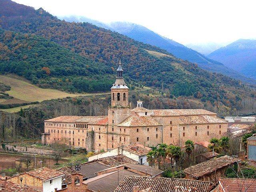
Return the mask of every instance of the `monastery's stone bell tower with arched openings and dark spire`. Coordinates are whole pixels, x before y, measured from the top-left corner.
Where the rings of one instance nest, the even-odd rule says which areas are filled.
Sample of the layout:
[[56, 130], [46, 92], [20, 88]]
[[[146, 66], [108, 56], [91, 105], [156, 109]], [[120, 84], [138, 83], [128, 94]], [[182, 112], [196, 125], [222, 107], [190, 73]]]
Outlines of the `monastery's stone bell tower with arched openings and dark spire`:
[[128, 103], [129, 88], [124, 82], [121, 57], [116, 70], [116, 82], [111, 87], [111, 105], [108, 107], [108, 125], [116, 126], [131, 115], [132, 107]]

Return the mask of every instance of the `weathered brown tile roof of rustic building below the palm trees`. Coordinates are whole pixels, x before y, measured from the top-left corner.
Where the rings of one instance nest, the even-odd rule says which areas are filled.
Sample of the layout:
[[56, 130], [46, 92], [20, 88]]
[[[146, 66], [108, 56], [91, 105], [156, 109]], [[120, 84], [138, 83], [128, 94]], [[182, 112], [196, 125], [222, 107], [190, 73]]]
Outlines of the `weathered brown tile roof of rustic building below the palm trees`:
[[233, 164], [237, 161], [238, 161], [237, 158], [233, 158], [233, 157], [225, 155], [225, 156], [222, 156], [219, 158], [214, 158], [214, 159], [208, 160], [206, 162], [202, 162], [200, 164], [191, 166], [191, 170], [190, 170], [190, 168], [186, 168], [186, 169], [184, 169], [184, 172], [190, 175], [190, 171], [191, 171], [191, 175], [193, 177], [200, 178], [206, 174], [209, 174], [215, 170], [226, 167], [226, 166]]

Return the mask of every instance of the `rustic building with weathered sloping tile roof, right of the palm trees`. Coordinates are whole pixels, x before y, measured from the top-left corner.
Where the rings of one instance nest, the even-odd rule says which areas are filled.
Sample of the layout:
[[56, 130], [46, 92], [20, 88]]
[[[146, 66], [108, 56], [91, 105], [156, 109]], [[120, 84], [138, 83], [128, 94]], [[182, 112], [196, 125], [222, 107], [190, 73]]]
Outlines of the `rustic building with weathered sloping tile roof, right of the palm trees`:
[[225, 172], [233, 164], [239, 165], [240, 160], [230, 156], [213, 158], [206, 162], [184, 169], [186, 179], [216, 182], [218, 178], [225, 177]]

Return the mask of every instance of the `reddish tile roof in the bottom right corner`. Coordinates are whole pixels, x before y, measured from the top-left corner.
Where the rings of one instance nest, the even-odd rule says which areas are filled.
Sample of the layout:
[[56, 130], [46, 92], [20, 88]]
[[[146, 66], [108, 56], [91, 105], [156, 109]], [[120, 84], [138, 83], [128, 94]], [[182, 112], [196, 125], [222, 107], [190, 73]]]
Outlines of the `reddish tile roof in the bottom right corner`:
[[219, 178], [225, 192], [256, 192], [256, 179]]

